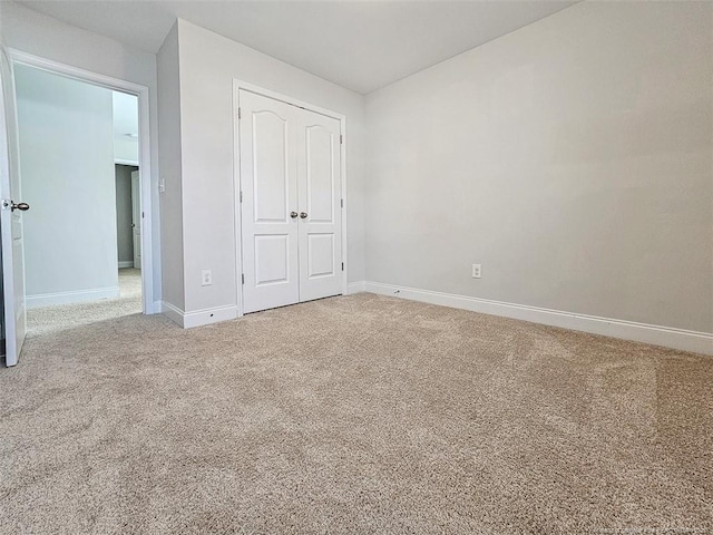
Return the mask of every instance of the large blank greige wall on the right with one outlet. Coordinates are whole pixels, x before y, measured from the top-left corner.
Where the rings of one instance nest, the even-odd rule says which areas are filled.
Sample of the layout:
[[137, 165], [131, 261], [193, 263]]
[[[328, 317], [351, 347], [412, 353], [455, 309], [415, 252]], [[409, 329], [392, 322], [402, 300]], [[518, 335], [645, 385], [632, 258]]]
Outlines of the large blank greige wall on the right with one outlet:
[[583, 2], [369, 95], [367, 279], [712, 332], [712, 9]]

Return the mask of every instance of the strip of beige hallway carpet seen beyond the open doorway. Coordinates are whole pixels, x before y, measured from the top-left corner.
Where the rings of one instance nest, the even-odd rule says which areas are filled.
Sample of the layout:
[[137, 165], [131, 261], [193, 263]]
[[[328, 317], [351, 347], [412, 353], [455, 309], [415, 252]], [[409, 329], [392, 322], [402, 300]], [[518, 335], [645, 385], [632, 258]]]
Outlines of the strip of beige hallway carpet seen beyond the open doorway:
[[119, 296], [90, 303], [59, 304], [27, 311], [28, 337], [141, 313], [141, 271], [119, 270]]

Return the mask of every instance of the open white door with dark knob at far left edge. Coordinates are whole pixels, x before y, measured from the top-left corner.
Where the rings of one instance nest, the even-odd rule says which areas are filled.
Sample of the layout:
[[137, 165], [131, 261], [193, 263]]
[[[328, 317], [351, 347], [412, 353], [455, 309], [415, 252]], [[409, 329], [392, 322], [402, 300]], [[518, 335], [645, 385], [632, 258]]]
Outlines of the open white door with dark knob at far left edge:
[[2, 293], [4, 298], [6, 364], [18, 363], [25, 334], [25, 242], [22, 216], [29, 208], [20, 203], [20, 154], [12, 64], [0, 46], [0, 235], [2, 250]]

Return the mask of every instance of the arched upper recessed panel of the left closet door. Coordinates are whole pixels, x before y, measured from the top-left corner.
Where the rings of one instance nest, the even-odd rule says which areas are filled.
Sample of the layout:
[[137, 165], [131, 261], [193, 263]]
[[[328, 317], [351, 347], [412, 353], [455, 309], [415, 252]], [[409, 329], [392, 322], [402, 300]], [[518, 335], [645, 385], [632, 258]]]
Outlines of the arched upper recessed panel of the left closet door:
[[286, 222], [287, 119], [272, 110], [252, 114], [253, 192], [256, 222]]

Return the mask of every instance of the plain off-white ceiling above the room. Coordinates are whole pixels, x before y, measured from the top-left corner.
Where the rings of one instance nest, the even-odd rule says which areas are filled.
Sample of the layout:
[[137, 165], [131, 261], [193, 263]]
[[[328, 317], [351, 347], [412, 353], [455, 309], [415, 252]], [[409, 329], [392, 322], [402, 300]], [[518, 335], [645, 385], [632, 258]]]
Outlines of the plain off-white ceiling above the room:
[[176, 18], [367, 94], [575, 3], [490, 1], [20, 1], [158, 51]]

